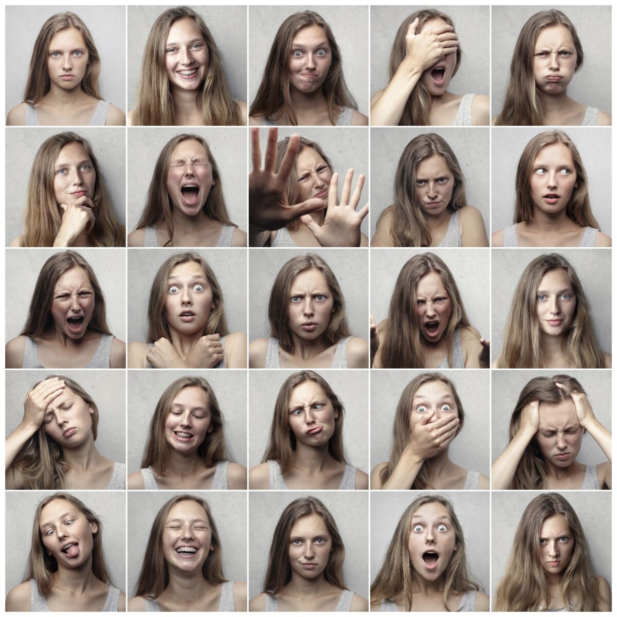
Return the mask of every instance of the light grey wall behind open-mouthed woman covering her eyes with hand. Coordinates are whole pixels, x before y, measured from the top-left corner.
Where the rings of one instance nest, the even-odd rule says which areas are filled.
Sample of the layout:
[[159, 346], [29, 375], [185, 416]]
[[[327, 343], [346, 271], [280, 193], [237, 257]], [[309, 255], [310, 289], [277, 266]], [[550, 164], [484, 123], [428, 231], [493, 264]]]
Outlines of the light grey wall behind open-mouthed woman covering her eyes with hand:
[[[489, 96], [489, 7], [429, 6], [454, 20], [462, 55], [457, 74], [448, 88], [457, 94]], [[390, 81], [390, 54], [401, 23], [423, 6], [371, 6], [371, 95]], [[428, 8], [428, 7], [427, 7]]]

